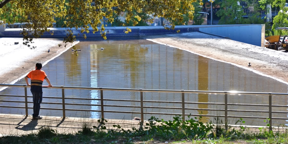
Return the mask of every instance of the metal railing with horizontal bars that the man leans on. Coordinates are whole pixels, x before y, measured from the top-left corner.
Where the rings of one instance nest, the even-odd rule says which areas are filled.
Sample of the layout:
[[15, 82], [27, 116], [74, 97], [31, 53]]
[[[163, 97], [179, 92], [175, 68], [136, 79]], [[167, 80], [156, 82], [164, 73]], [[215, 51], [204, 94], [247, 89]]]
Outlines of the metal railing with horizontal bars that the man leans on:
[[[18, 106], [3, 106], [0, 107], [7, 107], [7, 108], [24, 108], [26, 110], [26, 116], [28, 116], [28, 109], [32, 109], [33, 107], [28, 107], [27, 98], [32, 96], [27, 96], [27, 88], [30, 86], [26, 85], [14, 85], [14, 84], [0, 84], [0, 86], [7, 86], [7, 87], [23, 87], [25, 95], [3, 95], [0, 96], [10, 96], [10, 97], [24, 97], [25, 101], [7, 101], [7, 100], [0, 100], [0, 102], [11, 102], [11, 103], [25, 103], [25, 107], [18, 107]], [[94, 111], [94, 112], [101, 112], [101, 118], [104, 118], [104, 112], [110, 113], [138, 113], [141, 114], [141, 122], [143, 122], [144, 114], [155, 114], [155, 115], [182, 115], [183, 121], [185, 120], [185, 116], [204, 116], [200, 114], [186, 114], [185, 110], [203, 110], [203, 111], [224, 111], [225, 115], [205, 115], [206, 117], [222, 117], [225, 118], [225, 126], [227, 128], [228, 118], [253, 118], [253, 119], [266, 119], [269, 118], [270, 130], [272, 130], [272, 120], [287, 120], [288, 118], [272, 118], [272, 113], [287, 113], [283, 111], [272, 111], [272, 107], [286, 107], [287, 105], [272, 105], [272, 95], [273, 96], [288, 96], [288, 93], [264, 93], [264, 92], [237, 92], [237, 91], [197, 91], [197, 90], [149, 90], [149, 89], [125, 89], [125, 88], [91, 88], [91, 87], [71, 87], [71, 86], [53, 86], [47, 87], [43, 86], [43, 88], [57, 88], [62, 89], [62, 97], [43, 97], [43, 98], [58, 98], [62, 99], [62, 103], [44, 103], [43, 104], [58, 104], [62, 105], [62, 109], [58, 108], [42, 108], [41, 109], [50, 109], [50, 110], [62, 110], [63, 117], [65, 118], [65, 111]], [[100, 90], [100, 98], [70, 98], [65, 97], [65, 89], [79, 89], [79, 90]], [[140, 93], [140, 100], [117, 100], [117, 99], [104, 99], [103, 98], [103, 90], [112, 90], [112, 91], [130, 91], [130, 92], [139, 92]], [[151, 100], [144, 100], [143, 99], [143, 92], [166, 92], [166, 93], [180, 93], [181, 94], [181, 101], [151, 101]], [[185, 93], [198, 93], [198, 94], [224, 94], [224, 103], [199, 103], [199, 102], [185, 102]], [[268, 96], [269, 104], [268, 105], [259, 105], [259, 104], [238, 104], [238, 103], [228, 103], [228, 94], [229, 95], [264, 95]], [[80, 104], [80, 103], [65, 103], [65, 99], [74, 99], [74, 100], [97, 100], [100, 101], [100, 105], [93, 105], [93, 104]], [[104, 101], [126, 101], [126, 102], [138, 102], [140, 106], [135, 105], [104, 105]], [[251, 101], [252, 102], [252, 101]], [[181, 107], [147, 107], [143, 106], [143, 103], [177, 103], [181, 104]], [[252, 102], [253, 103], [253, 102]], [[199, 108], [185, 108], [185, 104], [205, 104], [205, 105], [224, 105], [224, 109], [199, 109]], [[85, 105], [85, 106], [99, 106], [101, 110], [90, 110], [90, 109], [65, 109], [65, 105]], [[237, 109], [228, 109], [228, 106], [256, 106], [256, 107], [269, 107], [269, 111], [253, 111], [253, 110], [237, 110]], [[135, 111], [105, 111], [104, 107], [133, 107], [139, 108], [140, 112]], [[151, 108], [151, 109], [179, 109], [182, 110], [182, 113], [152, 113], [152, 112], [144, 112], [144, 108]], [[269, 113], [268, 117], [249, 117], [249, 116], [231, 116], [228, 115], [228, 111], [230, 112], [257, 112], [257, 113]]]

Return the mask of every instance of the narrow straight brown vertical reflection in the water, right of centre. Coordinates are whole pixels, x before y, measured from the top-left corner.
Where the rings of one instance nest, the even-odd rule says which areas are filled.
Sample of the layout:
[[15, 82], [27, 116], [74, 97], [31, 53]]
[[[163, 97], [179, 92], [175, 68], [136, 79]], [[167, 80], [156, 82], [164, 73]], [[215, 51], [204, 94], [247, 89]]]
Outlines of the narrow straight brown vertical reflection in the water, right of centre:
[[[208, 91], [208, 58], [198, 59], [198, 90]], [[207, 103], [208, 94], [198, 94], [198, 102]], [[207, 109], [208, 105], [198, 105], [200, 109]], [[208, 111], [200, 111], [203, 115], [208, 114]], [[202, 120], [207, 120], [207, 117], [202, 117]]]

